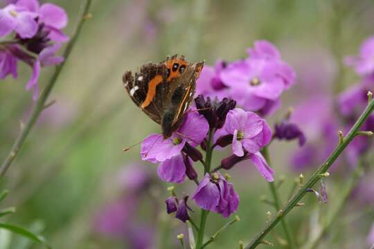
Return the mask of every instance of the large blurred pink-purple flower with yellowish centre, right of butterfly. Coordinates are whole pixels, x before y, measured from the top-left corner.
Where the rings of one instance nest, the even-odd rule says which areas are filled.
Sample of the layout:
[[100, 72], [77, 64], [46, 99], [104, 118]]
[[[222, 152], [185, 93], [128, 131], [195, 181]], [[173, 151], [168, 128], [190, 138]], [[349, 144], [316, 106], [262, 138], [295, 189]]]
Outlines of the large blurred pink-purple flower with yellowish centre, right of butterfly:
[[231, 88], [231, 98], [247, 111], [265, 113], [276, 107], [281, 93], [295, 80], [295, 73], [281, 60], [275, 46], [258, 41], [249, 48], [249, 58], [229, 64], [220, 73], [220, 79]]

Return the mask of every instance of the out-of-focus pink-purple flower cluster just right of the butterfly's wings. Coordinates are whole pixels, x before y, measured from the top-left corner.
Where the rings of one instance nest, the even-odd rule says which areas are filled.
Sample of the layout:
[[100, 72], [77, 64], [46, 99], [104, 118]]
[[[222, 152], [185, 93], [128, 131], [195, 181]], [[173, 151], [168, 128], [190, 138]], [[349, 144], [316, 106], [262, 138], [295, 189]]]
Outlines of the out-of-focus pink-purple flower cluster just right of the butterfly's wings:
[[244, 110], [266, 115], [279, 107], [281, 94], [295, 82], [295, 73], [267, 41], [255, 42], [247, 53], [246, 59], [204, 66], [197, 94], [232, 98]]

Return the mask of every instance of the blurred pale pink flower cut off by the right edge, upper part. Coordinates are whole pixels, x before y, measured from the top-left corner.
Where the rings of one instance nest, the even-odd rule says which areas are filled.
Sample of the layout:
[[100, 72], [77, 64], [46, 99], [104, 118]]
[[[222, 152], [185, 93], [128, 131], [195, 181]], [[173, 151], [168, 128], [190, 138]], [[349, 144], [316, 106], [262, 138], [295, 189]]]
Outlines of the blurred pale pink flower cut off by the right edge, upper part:
[[362, 76], [374, 73], [374, 37], [368, 37], [359, 49], [359, 55], [346, 57], [348, 66], [354, 66], [356, 73]]

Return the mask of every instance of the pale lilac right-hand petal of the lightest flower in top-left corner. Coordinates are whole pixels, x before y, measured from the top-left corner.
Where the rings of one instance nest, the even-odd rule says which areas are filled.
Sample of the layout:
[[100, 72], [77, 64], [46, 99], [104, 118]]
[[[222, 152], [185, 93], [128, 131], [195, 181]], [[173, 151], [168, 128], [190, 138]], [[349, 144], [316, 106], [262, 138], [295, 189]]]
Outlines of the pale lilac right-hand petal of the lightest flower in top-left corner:
[[35, 15], [31, 12], [20, 12], [17, 26], [15, 31], [21, 38], [31, 38], [37, 33], [37, 22], [35, 21]]

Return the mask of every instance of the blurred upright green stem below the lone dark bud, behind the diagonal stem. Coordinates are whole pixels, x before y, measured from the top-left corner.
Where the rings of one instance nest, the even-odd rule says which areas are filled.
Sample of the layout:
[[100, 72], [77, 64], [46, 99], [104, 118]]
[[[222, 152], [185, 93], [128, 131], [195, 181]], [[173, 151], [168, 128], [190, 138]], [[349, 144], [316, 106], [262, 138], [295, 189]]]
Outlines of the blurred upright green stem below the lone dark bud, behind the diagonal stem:
[[[267, 164], [271, 167], [271, 160], [270, 160], [269, 151], [267, 147], [262, 149], [262, 155], [267, 160]], [[271, 191], [271, 195], [273, 196], [274, 207], [276, 208], [276, 211], [278, 212], [278, 210], [281, 210], [281, 203], [279, 201], [278, 191], [276, 190], [276, 186], [274, 185], [274, 182], [269, 183], [269, 188]], [[288, 245], [290, 245], [290, 248], [292, 249], [297, 248], [290, 226], [285, 221], [285, 219], [282, 219], [281, 224], [282, 224], [283, 230], [285, 231], [285, 239], [287, 240]]]

